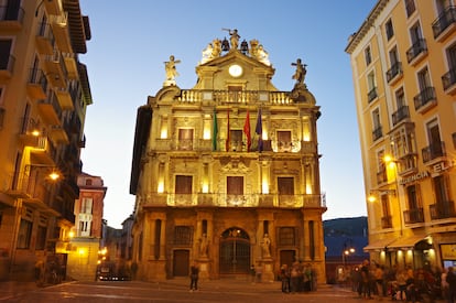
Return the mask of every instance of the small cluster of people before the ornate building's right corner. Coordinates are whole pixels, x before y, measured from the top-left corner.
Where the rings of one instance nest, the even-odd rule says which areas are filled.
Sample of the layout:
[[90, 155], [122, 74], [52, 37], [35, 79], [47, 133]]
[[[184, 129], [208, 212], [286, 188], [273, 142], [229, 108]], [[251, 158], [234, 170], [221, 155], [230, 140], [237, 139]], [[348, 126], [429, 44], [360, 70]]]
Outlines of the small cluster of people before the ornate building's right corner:
[[291, 267], [282, 264], [280, 280], [284, 293], [308, 292], [317, 289], [317, 274], [310, 263], [303, 264], [296, 261]]

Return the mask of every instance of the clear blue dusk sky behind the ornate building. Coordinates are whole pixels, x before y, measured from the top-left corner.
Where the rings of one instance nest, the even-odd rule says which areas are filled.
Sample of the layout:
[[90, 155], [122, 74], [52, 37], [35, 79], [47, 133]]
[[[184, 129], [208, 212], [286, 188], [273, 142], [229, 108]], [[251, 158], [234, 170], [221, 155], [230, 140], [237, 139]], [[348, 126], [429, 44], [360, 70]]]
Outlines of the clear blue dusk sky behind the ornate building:
[[108, 187], [105, 215], [120, 228], [132, 214], [130, 171], [138, 107], [165, 80], [164, 62], [181, 59], [177, 86], [192, 88], [209, 42], [257, 39], [269, 53], [279, 90], [292, 90], [296, 58], [307, 64], [305, 83], [321, 106], [317, 121], [323, 219], [366, 216], [366, 194], [350, 58], [344, 52], [376, 0], [150, 1], [80, 0], [89, 17], [87, 65], [94, 104], [87, 109], [83, 170]]

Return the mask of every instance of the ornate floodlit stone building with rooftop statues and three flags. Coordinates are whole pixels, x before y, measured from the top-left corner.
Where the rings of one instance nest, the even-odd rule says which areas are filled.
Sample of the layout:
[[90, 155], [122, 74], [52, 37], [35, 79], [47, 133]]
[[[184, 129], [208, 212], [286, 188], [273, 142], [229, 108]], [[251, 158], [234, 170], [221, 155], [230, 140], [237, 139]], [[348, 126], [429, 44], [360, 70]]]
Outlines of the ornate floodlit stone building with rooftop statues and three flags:
[[[311, 263], [325, 279], [316, 121], [301, 59], [291, 91], [257, 40], [215, 39], [191, 89], [166, 80], [138, 109], [130, 192], [137, 196], [133, 261], [138, 278], [248, 274]], [[177, 65], [178, 66], [178, 65]]]

